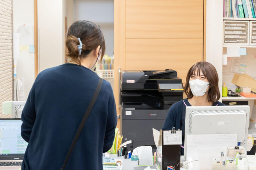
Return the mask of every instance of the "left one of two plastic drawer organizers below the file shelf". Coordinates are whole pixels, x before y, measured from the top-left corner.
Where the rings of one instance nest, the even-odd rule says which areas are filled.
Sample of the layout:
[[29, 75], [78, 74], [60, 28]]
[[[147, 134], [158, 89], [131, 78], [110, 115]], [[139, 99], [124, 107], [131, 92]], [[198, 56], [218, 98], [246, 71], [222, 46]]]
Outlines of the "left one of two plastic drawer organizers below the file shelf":
[[[256, 28], [256, 23], [255, 23]], [[223, 45], [249, 45], [249, 21], [223, 21]], [[255, 30], [256, 33], [256, 30]], [[255, 34], [256, 41], [256, 34]], [[255, 42], [256, 43], [256, 42]]]

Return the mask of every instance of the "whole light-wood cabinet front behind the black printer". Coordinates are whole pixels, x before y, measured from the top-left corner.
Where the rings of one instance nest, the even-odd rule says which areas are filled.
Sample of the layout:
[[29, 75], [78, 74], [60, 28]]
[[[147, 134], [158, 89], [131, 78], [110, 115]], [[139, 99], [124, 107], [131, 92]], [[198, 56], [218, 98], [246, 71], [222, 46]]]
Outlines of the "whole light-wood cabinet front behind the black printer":
[[114, 0], [117, 114], [118, 68], [173, 69], [185, 83], [189, 68], [203, 61], [204, 24], [204, 0]]

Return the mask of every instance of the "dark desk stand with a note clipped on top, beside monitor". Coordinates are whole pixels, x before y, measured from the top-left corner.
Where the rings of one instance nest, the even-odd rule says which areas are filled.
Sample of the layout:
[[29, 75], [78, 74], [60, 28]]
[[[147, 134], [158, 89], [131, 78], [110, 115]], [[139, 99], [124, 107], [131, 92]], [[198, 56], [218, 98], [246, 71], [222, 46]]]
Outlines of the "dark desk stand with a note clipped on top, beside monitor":
[[180, 160], [181, 160], [181, 144], [182, 144], [182, 131], [175, 130], [163, 131], [161, 129], [157, 154], [156, 154], [156, 164], [159, 169], [166, 170], [180, 170]]

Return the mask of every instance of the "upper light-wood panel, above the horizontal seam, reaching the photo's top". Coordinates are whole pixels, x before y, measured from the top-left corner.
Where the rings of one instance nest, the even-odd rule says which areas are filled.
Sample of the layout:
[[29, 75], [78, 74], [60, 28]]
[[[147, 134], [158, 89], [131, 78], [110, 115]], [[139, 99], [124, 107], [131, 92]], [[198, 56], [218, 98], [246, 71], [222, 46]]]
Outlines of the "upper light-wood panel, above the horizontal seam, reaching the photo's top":
[[203, 39], [203, 0], [126, 0], [125, 38]]

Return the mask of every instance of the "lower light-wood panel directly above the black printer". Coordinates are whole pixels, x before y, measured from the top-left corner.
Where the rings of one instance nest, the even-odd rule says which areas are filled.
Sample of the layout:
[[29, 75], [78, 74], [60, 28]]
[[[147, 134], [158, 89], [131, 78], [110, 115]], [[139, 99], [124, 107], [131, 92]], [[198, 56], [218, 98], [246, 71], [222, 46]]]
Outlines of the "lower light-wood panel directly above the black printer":
[[126, 39], [125, 41], [125, 70], [173, 69], [185, 83], [189, 68], [202, 60], [202, 39]]

